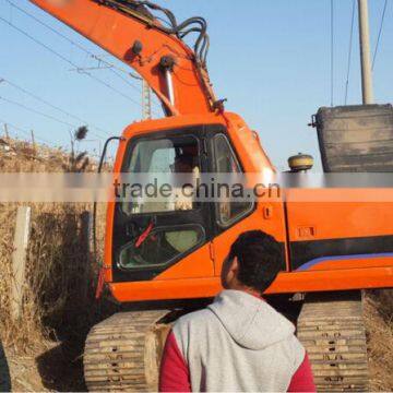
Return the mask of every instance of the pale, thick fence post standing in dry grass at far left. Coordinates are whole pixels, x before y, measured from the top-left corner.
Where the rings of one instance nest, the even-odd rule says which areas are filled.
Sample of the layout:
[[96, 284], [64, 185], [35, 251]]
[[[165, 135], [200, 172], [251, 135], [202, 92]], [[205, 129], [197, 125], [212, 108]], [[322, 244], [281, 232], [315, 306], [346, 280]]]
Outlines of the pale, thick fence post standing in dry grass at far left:
[[27, 246], [31, 229], [32, 209], [17, 207], [16, 226], [12, 252], [12, 285], [11, 285], [11, 317], [19, 321], [22, 317], [23, 287], [25, 283], [25, 269]]

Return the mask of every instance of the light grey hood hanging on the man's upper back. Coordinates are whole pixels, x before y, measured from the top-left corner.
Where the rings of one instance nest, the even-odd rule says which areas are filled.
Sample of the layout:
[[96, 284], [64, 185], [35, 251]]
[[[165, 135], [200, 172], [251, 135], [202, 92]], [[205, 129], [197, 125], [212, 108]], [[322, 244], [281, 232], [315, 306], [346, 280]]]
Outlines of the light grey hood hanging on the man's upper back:
[[265, 301], [241, 290], [224, 290], [209, 306], [233, 340], [260, 350], [287, 340], [295, 326]]

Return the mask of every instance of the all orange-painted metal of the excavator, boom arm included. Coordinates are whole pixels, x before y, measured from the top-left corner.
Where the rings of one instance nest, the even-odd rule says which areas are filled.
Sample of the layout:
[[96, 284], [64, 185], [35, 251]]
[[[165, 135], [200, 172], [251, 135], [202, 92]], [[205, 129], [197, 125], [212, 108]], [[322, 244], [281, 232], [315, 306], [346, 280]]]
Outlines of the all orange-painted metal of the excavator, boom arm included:
[[[55, 5], [49, 0], [31, 0], [84, 37], [134, 69], [166, 106], [168, 117], [135, 122], [124, 132], [117, 152], [114, 180], [119, 177], [126, 146], [134, 136], [156, 136], [162, 131], [192, 126], [222, 124], [247, 176], [273, 175], [275, 168], [259, 139], [235, 114], [218, 112], [209, 76], [194, 61], [194, 53], [175, 35], [164, 33], [156, 22], [128, 16], [92, 0], [72, 0]], [[143, 45], [132, 53], [135, 40]], [[168, 102], [160, 58], [171, 56], [175, 103]], [[263, 135], [262, 135], [263, 136]], [[119, 301], [213, 297], [219, 289], [223, 261], [235, 239], [246, 230], [261, 229], [284, 243], [286, 272], [271, 294], [393, 287], [393, 259], [370, 258], [323, 261], [307, 272], [291, 272], [289, 242], [393, 235], [393, 190], [284, 190], [276, 199], [257, 201], [254, 211], [152, 281], [114, 283], [112, 233], [115, 203], [108, 203], [105, 238], [105, 282]], [[325, 255], [319, 255], [325, 257]]]

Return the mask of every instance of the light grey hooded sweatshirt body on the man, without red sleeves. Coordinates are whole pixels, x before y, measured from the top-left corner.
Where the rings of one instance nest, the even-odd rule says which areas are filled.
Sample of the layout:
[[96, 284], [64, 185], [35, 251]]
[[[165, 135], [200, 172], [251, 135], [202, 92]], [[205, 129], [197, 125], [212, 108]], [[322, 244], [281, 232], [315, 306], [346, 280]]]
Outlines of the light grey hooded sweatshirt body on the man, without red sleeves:
[[287, 319], [238, 290], [224, 290], [172, 331], [194, 392], [286, 392], [306, 354]]

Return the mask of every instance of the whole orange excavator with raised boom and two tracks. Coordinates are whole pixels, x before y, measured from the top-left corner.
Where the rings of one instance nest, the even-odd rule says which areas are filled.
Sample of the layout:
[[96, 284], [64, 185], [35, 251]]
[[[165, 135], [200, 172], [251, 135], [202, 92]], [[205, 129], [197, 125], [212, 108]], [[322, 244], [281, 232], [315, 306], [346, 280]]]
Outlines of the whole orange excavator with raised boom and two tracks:
[[[184, 156], [201, 174], [277, 174], [255, 132], [240, 116], [225, 111], [224, 100], [214, 95], [205, 20], [179, 23], [150, 1], [31, 1], [136, 71], [163, 105], [165, 118], [132, 123], [118, 138], [115, 181], [121, 174], [170, 172]], [[186, 44], [191, 37], [193, 46]], [[380, 114], [378, 106], [370, 108]], [[353, 132], [365, 118], [353, 121], [349, 130], [343, 126], [347, 117], [332, 120], [334, 109], [315, 118], [324, 164], [341, 159], [348, 164], [341, 168], [356, 171], [362, 157], [381, 159], [383, 155], [371, 154], [372, 130], [361, 133], [360, 141]], [[379, 135], [392, 135], [392, 108], [382, 109]], [[342, 115], [345, 108], [337, 110]], [[349, 140], [337, 138], [341, 133], [333, 138], [332, 123], [335, 131], [337, 124], [343, 133], [350, 131], [355, 147], [360, 143], [366, 148], [364, 155], [355, 147], [350, 152]], [[344, 150], [334, 147], [337, 141], [340, 146], [347, 143]], [[334, 154], [346, 157], [332, 160]], [[290, 163], [294, 171], [310, 165], [305, 155]], [[331, 166], [324, 165], [326, 170]], [[140, 201], [108, 203], [102, 282], [131, 311], [92, 329], [84, 354], [87, 388], [156, 390], [168, 326], [221, 290], [230, 245], [239, 234], [261, 229], [276, 238], [284, 255], [282, 273], [266, 296], [285, 295], [294, 308], [296, 298], [301, 300], [297, 332], [319, 390], [367, 390], [360, 291], [393, 287], [392, 201], [388, 188], [287, 188], [272, 200], [218, 200], [183, 210]]]

